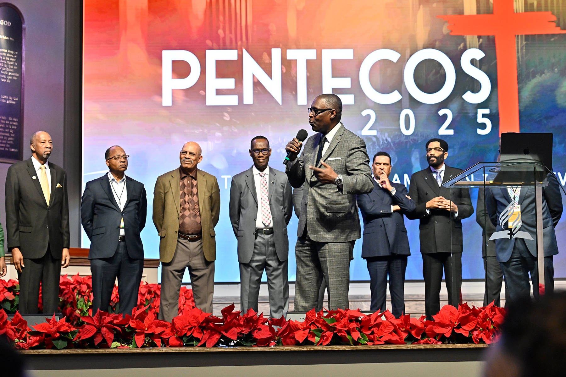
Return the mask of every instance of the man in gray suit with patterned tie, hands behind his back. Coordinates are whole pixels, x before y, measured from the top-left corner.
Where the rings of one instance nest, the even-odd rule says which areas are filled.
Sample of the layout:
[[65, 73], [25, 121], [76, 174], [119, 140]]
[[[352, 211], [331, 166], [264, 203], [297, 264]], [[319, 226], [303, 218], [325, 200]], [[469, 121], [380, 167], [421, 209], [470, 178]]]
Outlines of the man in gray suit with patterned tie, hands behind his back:
[[265, 136], [250, 143], [254, 166], [232, 178], [230, 222], [238, 240], [240, 310], [258, 311], [263, 271], [267, 274], [269, 317], [289, 310], [287, 224], [293, 213], [291, 185], [284, 172], [269, 167]]

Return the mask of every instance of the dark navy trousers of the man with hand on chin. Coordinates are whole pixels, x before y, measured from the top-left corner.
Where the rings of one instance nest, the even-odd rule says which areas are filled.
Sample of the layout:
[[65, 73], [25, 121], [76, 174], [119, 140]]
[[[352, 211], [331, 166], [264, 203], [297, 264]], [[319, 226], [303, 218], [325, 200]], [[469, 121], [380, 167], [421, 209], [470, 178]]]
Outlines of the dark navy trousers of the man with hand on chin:
[[391, 293], [391, 314], [396, 318], [405, 313], [405, 270], [407, 255], [384, 255], [366, 258], [370, 272], [371, 311], [385, 311], [387, 276]]

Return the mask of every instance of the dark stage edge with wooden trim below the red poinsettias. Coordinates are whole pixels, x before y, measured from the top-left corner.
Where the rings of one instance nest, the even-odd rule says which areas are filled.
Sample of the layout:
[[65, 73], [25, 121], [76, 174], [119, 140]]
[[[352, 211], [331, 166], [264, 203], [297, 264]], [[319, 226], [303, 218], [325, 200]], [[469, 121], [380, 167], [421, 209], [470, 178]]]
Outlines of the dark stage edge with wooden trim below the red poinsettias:
[[[35, 370], [482, 361], [486, 344], [22, 350]], [[266, 354], [269, 353], [269, 354]]]

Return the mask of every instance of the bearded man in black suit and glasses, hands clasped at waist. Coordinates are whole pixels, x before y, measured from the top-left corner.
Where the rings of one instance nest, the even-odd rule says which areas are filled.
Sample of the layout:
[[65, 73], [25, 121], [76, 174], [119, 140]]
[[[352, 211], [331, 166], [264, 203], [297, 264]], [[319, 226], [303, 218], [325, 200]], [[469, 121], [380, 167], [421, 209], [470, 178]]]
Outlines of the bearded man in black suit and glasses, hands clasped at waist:
[[424, 145], [428, 167], [411, 176], [409, 196], [417, 206], [407, 215], [419, 219], [423, 257], [424, 306], [427, 319], [440, 311], [442, 274], [448, 304], [458, 306], [462, 285], [462, 219], [474, 213], [468, 189], [441, 187], [462, 172], [444, 163], [448, 143], [439, 138]]

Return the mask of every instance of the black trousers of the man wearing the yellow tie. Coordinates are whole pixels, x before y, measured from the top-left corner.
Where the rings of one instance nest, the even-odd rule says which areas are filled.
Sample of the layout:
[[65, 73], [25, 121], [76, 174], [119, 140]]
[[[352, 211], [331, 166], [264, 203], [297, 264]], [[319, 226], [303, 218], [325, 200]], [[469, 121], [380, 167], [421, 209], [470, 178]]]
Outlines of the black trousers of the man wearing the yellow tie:
[[59, 277], [61, 259], [53, 258], [51, 249], [41, 258], [24, 258], [24, 268], [18, 272], [20, 282], [20, 314], [37, 314], [39, 287], [41, 283], [41, 302], [43, 314], [59, 313]]

